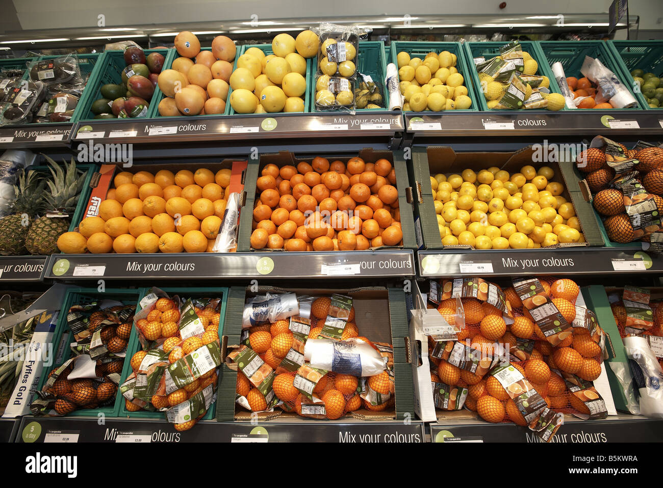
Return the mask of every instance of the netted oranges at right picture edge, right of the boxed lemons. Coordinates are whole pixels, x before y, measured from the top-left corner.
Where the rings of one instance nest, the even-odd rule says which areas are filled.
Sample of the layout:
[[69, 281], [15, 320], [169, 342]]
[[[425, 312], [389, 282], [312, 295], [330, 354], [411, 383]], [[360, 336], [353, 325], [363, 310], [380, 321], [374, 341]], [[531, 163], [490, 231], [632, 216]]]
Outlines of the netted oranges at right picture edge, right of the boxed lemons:
[[663, 149], [639, 142], [633, 149], [597, 136], [576, 166], [585, 175], [592, 204], [610, 240], [645, 240], [663, 246]]

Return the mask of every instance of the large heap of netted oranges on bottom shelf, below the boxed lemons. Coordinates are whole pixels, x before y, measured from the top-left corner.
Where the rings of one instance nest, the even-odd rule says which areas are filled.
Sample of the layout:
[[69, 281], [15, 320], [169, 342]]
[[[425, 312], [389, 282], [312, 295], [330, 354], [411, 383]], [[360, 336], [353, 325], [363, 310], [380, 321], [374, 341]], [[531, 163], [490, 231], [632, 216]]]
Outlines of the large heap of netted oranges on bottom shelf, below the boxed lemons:
[[455, 339], [429, 337], [438, 408], [464, 407], [487, 422], [539, 431], [542, 418], [550, 423], [548, 409], [607, 416], [592, 383], [601, 374], [605, 333], [573, 280], [516, 279], [503, 289], [464, 278], [439, 289], [429, 307]]

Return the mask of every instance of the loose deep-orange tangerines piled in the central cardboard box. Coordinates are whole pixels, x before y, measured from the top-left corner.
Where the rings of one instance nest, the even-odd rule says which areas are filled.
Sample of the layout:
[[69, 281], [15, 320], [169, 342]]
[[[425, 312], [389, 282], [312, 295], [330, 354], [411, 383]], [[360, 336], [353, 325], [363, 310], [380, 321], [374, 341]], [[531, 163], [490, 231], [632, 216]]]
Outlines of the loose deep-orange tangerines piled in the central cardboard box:
[[257, 181], [253, 249], [351, 251], [402, 246], [396, 174], [387, 159], [315, 157], [266, 165]]

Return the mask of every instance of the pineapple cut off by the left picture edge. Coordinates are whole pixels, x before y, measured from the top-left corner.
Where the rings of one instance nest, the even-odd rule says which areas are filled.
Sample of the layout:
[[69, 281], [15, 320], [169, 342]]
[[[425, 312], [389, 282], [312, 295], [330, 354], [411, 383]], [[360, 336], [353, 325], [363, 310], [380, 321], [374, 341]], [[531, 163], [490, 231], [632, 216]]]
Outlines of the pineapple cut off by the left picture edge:
[[14, 185], [15, 200], [11, 204], [13, 214], [0, 218], [0, 254], [20, 256], [27, 254], [25, 236], [28, 234], [34, 216], [42, 210], [46, 180], [36, 171], [25, 171], [19, 175]]

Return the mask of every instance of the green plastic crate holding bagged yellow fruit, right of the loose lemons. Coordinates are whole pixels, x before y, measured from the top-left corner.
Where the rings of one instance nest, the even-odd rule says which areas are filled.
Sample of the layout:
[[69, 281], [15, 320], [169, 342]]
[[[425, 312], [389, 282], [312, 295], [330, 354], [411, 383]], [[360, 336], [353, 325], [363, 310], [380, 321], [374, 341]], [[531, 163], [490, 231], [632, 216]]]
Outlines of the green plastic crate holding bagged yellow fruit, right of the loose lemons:
[[[532, 110], [492, 110], [488, 108], [488, 102], [483, 96], [483, 91], [481, 90], [481, 82], [479, 82], [479, 74], [474, 68], [474, 58], [484, 57], [486, 59], [499, 56], [499, 49], [507, 44], [507, 42], [465, 42], [465, 52], [469, 58], [469, 62], [472, 66], [472, 80], [477, 87], [477, 95], [479, 100], [479, 106], [481, 110], [486, 112], [496, 112], [499, 114], [508, 113], [508, 112], [549, 112], [545, 108], [542, 109], [532, 109]], [[550, 65], [546, 61], [546, 56], [540, 50], [538, 44], [534, 41], [520, 41], [520, 46], [522, 50], [527, 52], [532, 58], [538, 63], [538, 69], [536, 70], [538, 76], [547, 76], [548, 82], [550, 83], [549, 90], [551, 93], [560, 93], [560, 87], [557, 85], [555, 76], [552, 74]], [[562, 110], [565, 110], [562, 108]]]

